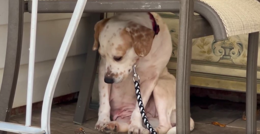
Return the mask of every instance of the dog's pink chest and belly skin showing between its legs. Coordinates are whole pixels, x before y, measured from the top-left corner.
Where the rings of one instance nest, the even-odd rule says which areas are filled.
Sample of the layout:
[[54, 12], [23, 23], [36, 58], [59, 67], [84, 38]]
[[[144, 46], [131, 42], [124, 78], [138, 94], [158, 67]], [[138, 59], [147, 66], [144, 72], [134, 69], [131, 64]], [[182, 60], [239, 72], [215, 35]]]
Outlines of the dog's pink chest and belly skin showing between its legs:
[[[136, 95], [133, 80], [131, 81], [130, 79], [118, 84], [113, 84], [111, 87], [109, 103], [110, 115], [113, 120], [116, 120], [118, 117], [130, 117], [136, 105]], [[152, 96], [147, 103], [145, 112], [147, 117], [158, 117]]]

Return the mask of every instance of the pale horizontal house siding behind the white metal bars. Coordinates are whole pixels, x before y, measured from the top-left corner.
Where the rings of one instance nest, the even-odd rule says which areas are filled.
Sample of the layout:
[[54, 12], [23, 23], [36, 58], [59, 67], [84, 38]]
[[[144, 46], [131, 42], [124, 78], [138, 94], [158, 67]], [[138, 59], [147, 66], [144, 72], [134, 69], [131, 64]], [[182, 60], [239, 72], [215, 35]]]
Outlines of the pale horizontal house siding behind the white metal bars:
[[[2, 83], [7, 31], [8, 1], [0, 0], [0, 86]], [[46, 85], [72, 14], [38, 14], [33, 102], [43, 100]], [[79, 91], [87, 51], [87, 20], [83, 14], [64, 63], [54, 97]], [[13, 108], [26, 105], [31, 14], [24, 13], [21, 63]]]

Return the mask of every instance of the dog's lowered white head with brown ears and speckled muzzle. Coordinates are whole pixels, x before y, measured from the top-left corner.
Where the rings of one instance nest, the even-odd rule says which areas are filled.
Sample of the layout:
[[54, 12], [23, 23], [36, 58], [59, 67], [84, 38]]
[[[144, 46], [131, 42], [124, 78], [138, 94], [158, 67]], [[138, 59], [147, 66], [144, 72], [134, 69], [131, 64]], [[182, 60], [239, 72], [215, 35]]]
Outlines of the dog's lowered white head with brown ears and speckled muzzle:
[[154, 31], [140, 24], [107, 18], [97, 22], [94, 29], [93, 50], [99, 48], [100, 56], [106, 60], [106, 83], [121, 82], [139, 57], [151, 50]]

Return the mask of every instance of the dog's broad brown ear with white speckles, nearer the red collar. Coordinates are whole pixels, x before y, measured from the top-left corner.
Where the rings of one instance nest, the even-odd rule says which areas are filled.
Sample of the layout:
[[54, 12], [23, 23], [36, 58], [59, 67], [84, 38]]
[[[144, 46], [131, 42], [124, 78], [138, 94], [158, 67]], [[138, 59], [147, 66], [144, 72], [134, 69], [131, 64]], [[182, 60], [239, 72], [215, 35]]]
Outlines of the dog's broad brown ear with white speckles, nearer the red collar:
[[140, 57], [148, 55], [152, 48], [154, 31], [134, 22], [128, 24], [126, 31], [130, 33], [135, 53]]

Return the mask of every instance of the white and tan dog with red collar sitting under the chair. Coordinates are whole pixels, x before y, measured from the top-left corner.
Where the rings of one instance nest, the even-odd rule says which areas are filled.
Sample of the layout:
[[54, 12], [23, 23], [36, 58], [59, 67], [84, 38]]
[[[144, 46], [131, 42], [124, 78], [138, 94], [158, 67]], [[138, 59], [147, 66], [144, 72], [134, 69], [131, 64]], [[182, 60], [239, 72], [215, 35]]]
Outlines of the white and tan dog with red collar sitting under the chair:
[[[95, 129], [105, 133], [150, 133], [142, 123], [135, 95], [136, 65], [149, 122], [159, 134], [176, 133], [176, 78], [166, 67], [172, 41], [159, 14], [117, 13], [97, 22], [94, 30], [93, 50], [98, 49], [101, 57]], [[190, 126], [192, 131], [192, 118]]]

